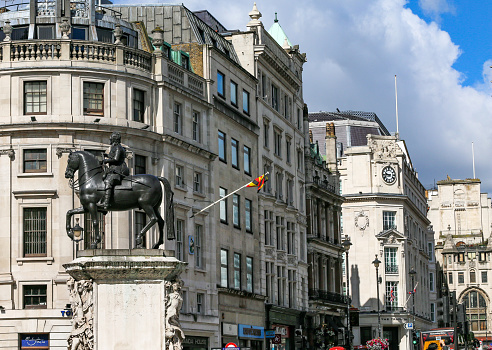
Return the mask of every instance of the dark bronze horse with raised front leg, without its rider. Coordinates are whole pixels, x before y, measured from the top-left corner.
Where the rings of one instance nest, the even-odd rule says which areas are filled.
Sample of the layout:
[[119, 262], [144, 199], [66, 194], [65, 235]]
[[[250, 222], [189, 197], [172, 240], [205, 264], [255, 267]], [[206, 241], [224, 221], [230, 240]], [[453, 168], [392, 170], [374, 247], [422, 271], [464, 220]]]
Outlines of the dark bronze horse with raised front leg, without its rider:
[[107, 210], [104, 210], [104, 208], [98, 204], [104, 196], [103, 165], [89, 152], [70, 152], [65, 177], [67, 179], [73, 179], [77, 170], [79, 171], [79, 198], [82, 206], [67, 211], [67, 235], [72, 240], [74, 240], [74, 235], [70, 222], [74, 214], [91, 214], [92, 228], [95, 237], [95, 241], [91, 243], [91, 248], [96, 249], [97, 244], [101, 242], [98, 212], [102, 212], [106, 215], [108, 211], [143, 209], [150, 220], [137, 234], [135, 240], [136, 247], [143, 247], [143, 237], [145, 233], [157, 223], [159, 225], [159, 240], [153, 247], [154, 249], [157, 249], [164, 243], [164, 220], [159, 213], [159, 207], [163, 198], [161, 183], [164, 185], [165, 194], [167, 239], [172, 240], [175, 238], [173, 191], [166, 178], [154, 175], [134, 175], [125, 177], [121, 186], [115, 187], [114, 195], [109, 203], [109, 207]]

